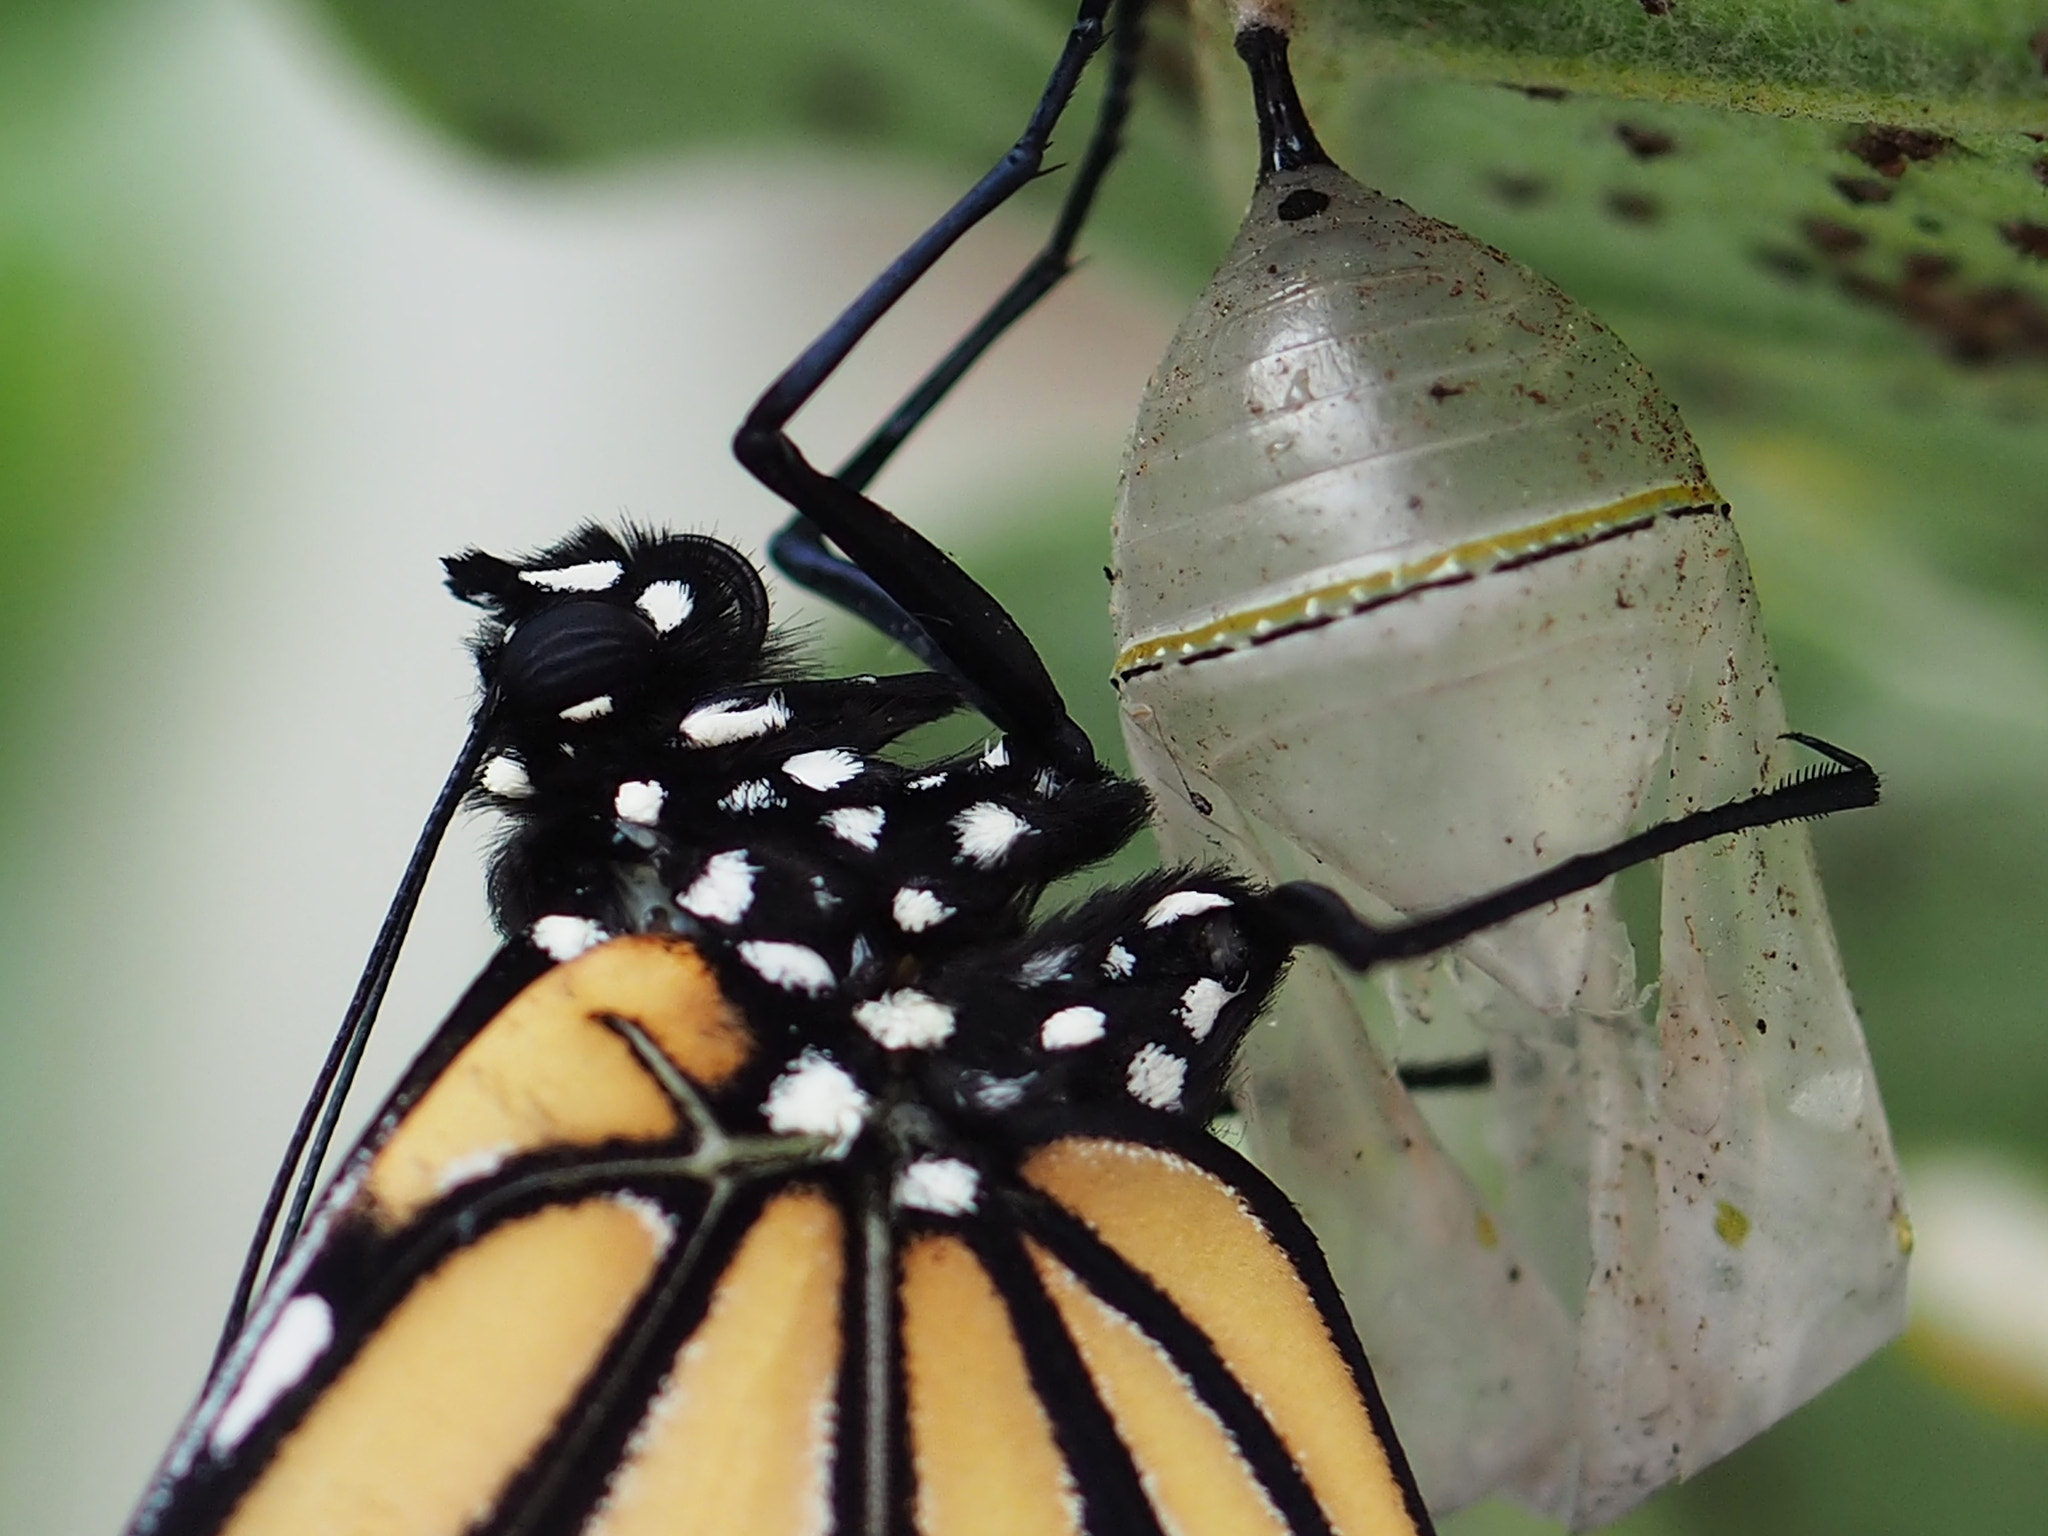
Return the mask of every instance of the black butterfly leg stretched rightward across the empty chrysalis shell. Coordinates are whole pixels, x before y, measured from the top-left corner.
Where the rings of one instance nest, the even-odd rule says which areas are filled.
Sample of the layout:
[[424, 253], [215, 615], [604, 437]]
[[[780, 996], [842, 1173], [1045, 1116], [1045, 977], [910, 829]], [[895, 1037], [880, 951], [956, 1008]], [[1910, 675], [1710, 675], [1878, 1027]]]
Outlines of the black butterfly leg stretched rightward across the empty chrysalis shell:
[[1837, 766], [1790, 778], [1778, 788], [1759, 791], [1739, 801], [1726, 801], [1724, 805], [1661, 821], [1647, 831], [1624, 838], [1612, 848], [1567, 858], [1542, 874], [1532, 874], [1477, 901], [1466, 901], [1434, 918], [1419, 918], [1399, 928], [1368, 924], [1352, 911], [1343, 897], [1313, 881], [1290, 881], [1268, 891], [1257, 905], [1260, 920], [1282, 942], [1315, 944], [1335, 954], [1354, 971], [1364, 971], [1389, 961], [1413, 961], [1421, 954], [1436, 954], [1483, 928], [1493, 928], [1546, 901], [1556, 901], [1573, 891], [1599, 885], [1610, 874], [1620, 874], [1624, 868], [1647, 864], [1653, 858], [1696, 842], [1720, 838], [1729, 831], [1767, 827], [1778, 821], [1804, 821], [1878, 803], [1878, 774], [1853, 752], [1843, 752], [1798, 731], [1788, 731], [1786, 737], [1802, 741]]

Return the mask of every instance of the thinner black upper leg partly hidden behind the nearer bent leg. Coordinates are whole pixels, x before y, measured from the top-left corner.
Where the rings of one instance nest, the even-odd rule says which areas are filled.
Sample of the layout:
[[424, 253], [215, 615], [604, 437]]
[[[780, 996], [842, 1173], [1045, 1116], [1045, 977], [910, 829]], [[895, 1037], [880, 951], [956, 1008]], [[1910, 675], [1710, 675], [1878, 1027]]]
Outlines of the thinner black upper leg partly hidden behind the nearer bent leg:
[[[1110, 78], [1096, 109], [1096, 127], [1081, 156], [1073, 186], [1059, 211], [1044, 248], [1016, 276], [1004, 295], [989, 305], [975, 328], [911, 389], [866, 442], [834, 473], [842, 485], [864, 492], [903, 440], [924, 424], [924, 418], [952, 391], [995, 340], [1022, 319], [1044, 295], [1073, 270], [1073, 246], [1094, 209], [1096, 195], [1124, 143], [1130, 119], [1130, 90], [1137, 80], [1139, 49], [1145, 41], [1143, 12], [1147, 0], [1118, 0], [1110, 29]], [[903, 612], [874, 580], [852, 561], [834, 553], [817, 524], [801, 514], [791, 518], [768, 545], [776, 567], [799, 586], [836, 602], [856, 618], [909, 649], [938, 672], [952, 672], [950, 659], [932, 643], [924, 627]]]

